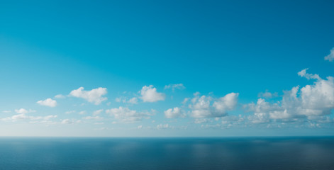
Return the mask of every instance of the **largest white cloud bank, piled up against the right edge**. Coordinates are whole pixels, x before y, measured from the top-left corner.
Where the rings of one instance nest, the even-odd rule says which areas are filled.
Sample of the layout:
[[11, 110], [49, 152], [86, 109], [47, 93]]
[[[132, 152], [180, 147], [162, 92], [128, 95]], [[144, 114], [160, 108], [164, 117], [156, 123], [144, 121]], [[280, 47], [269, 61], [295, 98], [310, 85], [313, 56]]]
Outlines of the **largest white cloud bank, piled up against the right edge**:
[[272, 119], [296, 121], [329, 115], [334, 108], [334, 78], [321, 79], [318, 74], [308, 74], [306, 70], [298, 74], [306, 79], [315, 79], [313, 84], [284, 91], [282, 101], [276, 103], [259, 98], [257, 103], [248, 104], [247, 108], [254, 112], [249, 119], [254, 123], [265, 123]]

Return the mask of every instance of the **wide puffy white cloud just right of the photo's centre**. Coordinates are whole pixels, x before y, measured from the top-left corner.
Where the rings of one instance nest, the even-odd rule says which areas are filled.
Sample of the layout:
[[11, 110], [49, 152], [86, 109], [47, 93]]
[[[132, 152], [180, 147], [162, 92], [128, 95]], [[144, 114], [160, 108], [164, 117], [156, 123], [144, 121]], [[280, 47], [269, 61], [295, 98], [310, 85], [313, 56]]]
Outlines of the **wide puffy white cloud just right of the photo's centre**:
[[194, 94], [189, 108], [191, 116], [194, 118], [218, 118], [227, 115], [227, 111], [232, 111], [238, 103], [238, 93], [226, 94], [221, 98], [211, 96], [199, 96]]

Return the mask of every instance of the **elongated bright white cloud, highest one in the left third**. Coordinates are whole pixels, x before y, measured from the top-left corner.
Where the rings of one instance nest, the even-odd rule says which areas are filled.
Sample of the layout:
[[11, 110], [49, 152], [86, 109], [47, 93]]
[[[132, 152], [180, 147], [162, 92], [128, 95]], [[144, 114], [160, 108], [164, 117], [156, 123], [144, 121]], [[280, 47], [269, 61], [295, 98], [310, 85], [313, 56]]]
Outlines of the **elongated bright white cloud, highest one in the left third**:
[[84, 91], [84, 87], [79, 87], [79, 89], [71, 91], [71, 93], [69, 93], [69, 96], [84, 98], [90, 103], [99, 105], [102, 101], [107, 100], [106, 97], [103, 97], [106, 94], [107, 94], [106, 88], [99, 87], [97, 89], [92, 89], [91, 91]]

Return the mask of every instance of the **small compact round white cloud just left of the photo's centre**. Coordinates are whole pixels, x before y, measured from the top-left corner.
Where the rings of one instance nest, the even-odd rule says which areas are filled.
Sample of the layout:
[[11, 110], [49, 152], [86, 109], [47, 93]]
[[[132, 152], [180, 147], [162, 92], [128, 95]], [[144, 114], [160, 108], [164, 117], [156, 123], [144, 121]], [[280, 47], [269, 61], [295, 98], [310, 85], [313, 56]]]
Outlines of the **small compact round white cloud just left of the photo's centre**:
[[165, 101], [165, 94], [158, 93], [157, 89], [150, 86], [143, 86], [143, 88], [140, 90], [141, 99], [144, 102], [156, 102], [156, 101]]

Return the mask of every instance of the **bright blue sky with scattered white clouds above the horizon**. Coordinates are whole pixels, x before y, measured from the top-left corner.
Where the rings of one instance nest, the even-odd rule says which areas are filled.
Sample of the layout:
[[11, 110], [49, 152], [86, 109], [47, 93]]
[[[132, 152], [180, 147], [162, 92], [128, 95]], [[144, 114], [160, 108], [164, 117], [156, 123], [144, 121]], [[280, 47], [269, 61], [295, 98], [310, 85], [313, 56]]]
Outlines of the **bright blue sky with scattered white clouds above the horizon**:
[[334, 135], [333, 1], [0, 1], [0, 136]]

